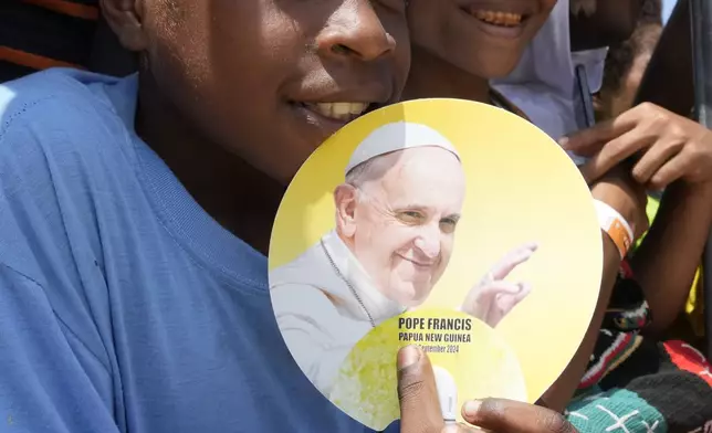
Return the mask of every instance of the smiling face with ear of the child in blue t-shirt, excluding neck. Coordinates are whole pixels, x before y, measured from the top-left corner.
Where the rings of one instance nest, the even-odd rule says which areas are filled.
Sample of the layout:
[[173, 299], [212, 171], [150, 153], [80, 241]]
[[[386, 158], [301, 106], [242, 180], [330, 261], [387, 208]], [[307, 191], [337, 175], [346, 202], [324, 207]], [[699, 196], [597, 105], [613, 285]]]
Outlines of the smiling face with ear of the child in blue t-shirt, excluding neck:
[[366, 110], [394, 103], [410, 46], [405, 0], [103, 0], [142, 85], [281, 182]]

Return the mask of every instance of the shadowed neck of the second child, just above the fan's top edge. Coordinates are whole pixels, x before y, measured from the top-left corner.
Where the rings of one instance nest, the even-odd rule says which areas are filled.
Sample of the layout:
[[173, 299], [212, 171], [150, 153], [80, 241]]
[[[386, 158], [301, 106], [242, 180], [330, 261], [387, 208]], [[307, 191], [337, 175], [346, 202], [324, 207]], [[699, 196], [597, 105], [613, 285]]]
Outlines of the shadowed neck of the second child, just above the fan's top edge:
[[474, 76], [413, 46], [404, 99], [446, 97], [490, 103], [489, 80]]

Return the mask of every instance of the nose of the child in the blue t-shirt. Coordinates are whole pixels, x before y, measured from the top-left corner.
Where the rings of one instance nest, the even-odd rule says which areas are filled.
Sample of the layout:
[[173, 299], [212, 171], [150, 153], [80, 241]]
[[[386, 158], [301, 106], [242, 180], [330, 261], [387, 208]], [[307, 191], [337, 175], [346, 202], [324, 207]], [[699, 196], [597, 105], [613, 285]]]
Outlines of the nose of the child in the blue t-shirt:
[[320, 53], [374, 61], [396, 50], [369, 0], [347, 0], [334, 12], [317, 38]]

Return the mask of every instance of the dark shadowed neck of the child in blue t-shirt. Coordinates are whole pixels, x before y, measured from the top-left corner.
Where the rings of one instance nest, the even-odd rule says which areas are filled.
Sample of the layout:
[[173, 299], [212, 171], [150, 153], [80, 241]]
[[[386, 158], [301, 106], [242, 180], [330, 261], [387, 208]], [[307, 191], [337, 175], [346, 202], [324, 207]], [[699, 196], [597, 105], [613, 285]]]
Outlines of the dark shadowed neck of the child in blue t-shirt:
[[[266, 253], [284, 187], [192, 128], [142, 74], [136, 131], [218, 223]], [[260, 186], [260, 188], [254, 188]]]

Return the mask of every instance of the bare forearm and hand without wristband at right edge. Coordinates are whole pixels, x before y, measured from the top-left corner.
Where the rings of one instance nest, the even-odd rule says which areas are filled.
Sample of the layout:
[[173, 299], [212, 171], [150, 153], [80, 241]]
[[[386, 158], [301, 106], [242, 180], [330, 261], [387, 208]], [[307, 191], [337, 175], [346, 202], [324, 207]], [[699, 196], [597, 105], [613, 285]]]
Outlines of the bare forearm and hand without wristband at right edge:
[[653, 104], [575, 134], [565, 148], [590, 156], [590, 182], [620, 163], [637, 183], [666, 189], [650, 233], [631, 266], [652, 313], [651, 330], [681, 311], [712, 222], [712, 131]]

